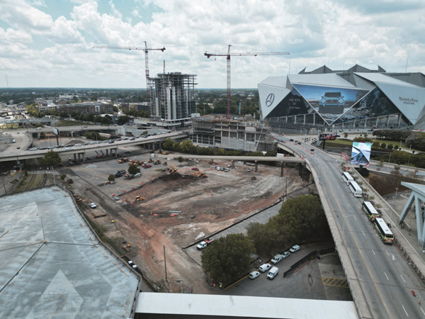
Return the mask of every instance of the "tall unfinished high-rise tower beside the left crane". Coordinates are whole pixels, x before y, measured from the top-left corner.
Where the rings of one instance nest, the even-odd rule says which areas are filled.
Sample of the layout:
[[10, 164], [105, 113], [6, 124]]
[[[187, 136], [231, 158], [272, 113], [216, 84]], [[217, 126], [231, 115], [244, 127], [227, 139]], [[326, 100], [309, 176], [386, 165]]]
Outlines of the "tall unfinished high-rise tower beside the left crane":
[[171, 123], [190, 122], [196, 112], [196, 74], [160, 73], [149, 79], [151, 116]]

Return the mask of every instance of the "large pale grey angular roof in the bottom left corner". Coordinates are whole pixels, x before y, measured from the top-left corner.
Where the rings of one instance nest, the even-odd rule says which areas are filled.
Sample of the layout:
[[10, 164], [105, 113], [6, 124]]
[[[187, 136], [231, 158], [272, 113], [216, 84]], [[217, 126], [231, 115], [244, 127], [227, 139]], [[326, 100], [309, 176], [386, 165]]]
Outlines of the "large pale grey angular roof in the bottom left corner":
[[0, 318], [132, 316], [140, 279], [99, 245], [66, 191], [3, 196], [0, 220]]

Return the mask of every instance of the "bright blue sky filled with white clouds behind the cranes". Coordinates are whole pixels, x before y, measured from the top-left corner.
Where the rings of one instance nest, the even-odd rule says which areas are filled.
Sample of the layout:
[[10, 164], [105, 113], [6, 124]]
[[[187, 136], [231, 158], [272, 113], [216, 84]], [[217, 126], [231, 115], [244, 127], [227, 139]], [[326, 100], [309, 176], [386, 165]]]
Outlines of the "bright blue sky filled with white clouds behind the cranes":
[[425, 73], [423, 0], [1, 0], [0, 87], [144, 88], [150, 76], [197, 74], [226, 87], [226, 58], [204, 52], [290, 52], [232, 57], [232, 88], [358, 63]]

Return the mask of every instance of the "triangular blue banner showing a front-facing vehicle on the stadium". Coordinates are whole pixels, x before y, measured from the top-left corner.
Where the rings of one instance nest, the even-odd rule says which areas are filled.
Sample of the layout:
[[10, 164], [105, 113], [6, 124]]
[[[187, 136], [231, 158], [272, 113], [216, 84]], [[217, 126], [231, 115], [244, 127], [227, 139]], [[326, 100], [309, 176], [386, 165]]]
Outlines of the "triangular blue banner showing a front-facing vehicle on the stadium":
[[346, 113], [368, 93], [361, 89], [329, 86], [305, 84], [293, 84], [293, 86], [328, 124]]

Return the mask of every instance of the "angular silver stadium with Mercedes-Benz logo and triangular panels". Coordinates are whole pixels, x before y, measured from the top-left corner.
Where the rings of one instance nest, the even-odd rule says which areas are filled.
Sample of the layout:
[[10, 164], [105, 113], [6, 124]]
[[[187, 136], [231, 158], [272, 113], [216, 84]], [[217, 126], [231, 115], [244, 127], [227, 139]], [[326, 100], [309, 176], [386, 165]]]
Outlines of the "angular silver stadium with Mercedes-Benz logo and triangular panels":
[[323, 66], [258, 84], [261, 115], [274, 128], [425, 128], [425, 75], [355, 65]]

